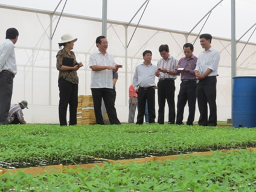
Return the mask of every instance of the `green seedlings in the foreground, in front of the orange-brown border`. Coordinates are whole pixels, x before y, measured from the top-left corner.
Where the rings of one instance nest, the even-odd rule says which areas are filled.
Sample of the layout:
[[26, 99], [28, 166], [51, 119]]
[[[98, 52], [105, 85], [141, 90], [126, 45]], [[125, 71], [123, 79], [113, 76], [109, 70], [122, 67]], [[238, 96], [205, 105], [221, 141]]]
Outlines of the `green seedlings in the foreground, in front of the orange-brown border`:
[[90, 170], [0, 176], [0, 191], [254, 191], [256, 154], [190, 155], [166, 162], [105, 164]]

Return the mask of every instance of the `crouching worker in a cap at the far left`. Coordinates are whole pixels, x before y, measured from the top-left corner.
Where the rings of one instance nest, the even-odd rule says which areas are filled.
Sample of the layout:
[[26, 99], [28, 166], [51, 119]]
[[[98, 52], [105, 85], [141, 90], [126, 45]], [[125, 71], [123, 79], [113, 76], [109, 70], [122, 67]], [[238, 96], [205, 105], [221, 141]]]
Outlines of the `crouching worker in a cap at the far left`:
[[8, 124], [27, 124], [27, 122], [24, 120], [22, 112], [24, 108], [28, 109], [27, 101], [22, 101], [18, 104], [11, 105], [7, 119]]

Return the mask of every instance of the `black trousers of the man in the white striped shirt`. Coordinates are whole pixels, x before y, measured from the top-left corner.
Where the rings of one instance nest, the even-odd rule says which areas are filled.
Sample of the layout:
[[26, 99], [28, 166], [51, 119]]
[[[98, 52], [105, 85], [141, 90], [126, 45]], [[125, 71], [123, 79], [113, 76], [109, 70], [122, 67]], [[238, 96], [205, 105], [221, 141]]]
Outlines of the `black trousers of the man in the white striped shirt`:
[[175, 123], [175, 103], [174, 103], [174, 80], [165, 79], [158, 81], [158, 123], [164, 124], [164, 108], [165, 99], [167, 100], [169, 108], [168, 123]]

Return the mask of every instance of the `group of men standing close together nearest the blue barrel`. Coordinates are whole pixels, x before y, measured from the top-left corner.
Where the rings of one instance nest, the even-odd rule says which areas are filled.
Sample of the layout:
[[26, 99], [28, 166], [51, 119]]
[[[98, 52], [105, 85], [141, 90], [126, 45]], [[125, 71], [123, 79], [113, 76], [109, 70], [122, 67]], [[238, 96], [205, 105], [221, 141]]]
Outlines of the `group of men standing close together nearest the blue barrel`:
[[[143, 123], [146, 102], [148, 103], [149, 123], [155, 123], [155, 90], [158, 89], [159, 124], [164, 124], [166, 100], [169, 124], [183, 125], [184, 108], [188, 102], [187, 125], [193, 125], [197, 98], [200, 112], [199, 125], [217, 125], [216, 76], [218, 75], [220, 53], [211, 47], [211, 34], [202, 34], [199, 39], [203, 51], [198, 58], [193, 55], [194, 46], [191, 43], [185, 43], [183, 46], [185, 57], [182, 57], [179, 61], [170, 55], [168, 45], [161, 45], [159, 53], [162, 58], [156, 66], [151, 63], [152, 52], [149, 50], [143, 52], [144, 62], [136, 67], [133, 83], [129, 88], [129, 123], [134, 121], [137, 99], [138, 116], [136, 124]], [[176, 116], [174, 80], [179, 75], [181, 75], [181, 88], [178, 94]], [[155, 77], [158, 77], [157, 85], [155, 84]], [[208, 105], [210, 108], [209, 117]]]

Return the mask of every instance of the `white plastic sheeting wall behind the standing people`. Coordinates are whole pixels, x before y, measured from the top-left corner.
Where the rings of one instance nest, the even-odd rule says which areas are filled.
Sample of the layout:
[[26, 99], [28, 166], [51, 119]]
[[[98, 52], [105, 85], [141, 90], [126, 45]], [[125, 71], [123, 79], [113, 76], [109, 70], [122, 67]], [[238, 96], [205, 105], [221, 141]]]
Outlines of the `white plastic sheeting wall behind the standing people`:
[[[59, 72], [56, 69], [56, 53], [59, 51], [57, 42], [60, 37], [69, 33], [78, 38], [74, 52], [77, 60], [82, 61], [85, 67], [78, 71], [80, 78], [79, 94], [91, 94], [91, 70], [88, 67], [89, 54], [97, 48], [95, 39], [101, 35], [101, 20], [63, 14], [54, 34], [59, 16], [51, 16], [50, 12], [28, 10], [23, 8], [0, 7], [1, 30], [0, 37], [5, 39], [7, 28], [15, 27], [19, 30], [19, 40], [16, 43], [16, 60], [18, 74], [14, 78], [12, 103], [22, 100], [28, 101], [29, 110], [24, 110], [28, 123], [58, 123], [59, 89], [57, 79]], [[150, 49], [153, 52], [153, 64], [161, 58], [158, 52], [159, 45], [168, 44], [173, 57], [184, 57], [182, 46], [187, 42], [194, 42], [197, 34], [190, 34], [170, 29], [139, 26], [126, 49], [135, 25], [109, 21], [107, 28], [108, 51], [114, 55], [118, 64], [123, 64], [119, 70], [117, 82], [117, 101], [115, 103], [118, 118], [121, 122], [128, 119], [128, 88], [132, 83], [133, 71], [137, 64], [142, 63], [142, 52]], [[208, 31], [211, 33], [211, 31]], [[214, 34], [212, 34], [214, 36]], [[1, 40], [1, 41], [2, 41]], [[217, 113], [218, 120], [231, 118], [231, 40], [214, 37], [212, 46], [220, 51], [219, 77], [217, 78]], [[237, 52], [245, 46], [245, 42], [237, 43]], [[249, 43], [237, 60], [237, 75], [255, 75], [254, 43]], [[202, 48], [199, 39], [194, 43], [194, 55], [198, 56]], [[157, 82], [157, 79], [156, 79]], [[180, 77], [176, 79], [176, 96], [179, 93]], [[156, 116], [158, 111], [156, 93]], [[187, 106], [184, 120], [187, 119]], [[196, 111], [196, 120], [199, 112]], [[136, 117], [135, 117], [136, 120]], [[167, 107], [165, 120], [168, 120]]]

